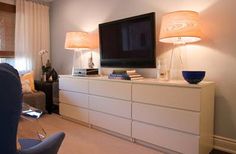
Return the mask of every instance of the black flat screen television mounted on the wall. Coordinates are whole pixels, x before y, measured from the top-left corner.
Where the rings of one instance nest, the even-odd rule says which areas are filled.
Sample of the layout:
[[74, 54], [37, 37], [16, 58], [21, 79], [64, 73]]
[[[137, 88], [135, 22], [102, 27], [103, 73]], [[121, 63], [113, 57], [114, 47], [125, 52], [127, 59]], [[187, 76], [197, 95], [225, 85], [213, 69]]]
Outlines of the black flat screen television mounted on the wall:
[[155, 13], [99, 24], [102, 67], [155, 68]]

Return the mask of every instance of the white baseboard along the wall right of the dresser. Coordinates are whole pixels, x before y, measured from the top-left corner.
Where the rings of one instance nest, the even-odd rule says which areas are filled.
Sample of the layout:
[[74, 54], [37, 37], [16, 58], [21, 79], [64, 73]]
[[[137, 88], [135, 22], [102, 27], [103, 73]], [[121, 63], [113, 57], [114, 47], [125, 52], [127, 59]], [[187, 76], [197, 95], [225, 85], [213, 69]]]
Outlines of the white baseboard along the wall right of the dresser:
[[236, 140], [215, 135], [214, 149], [236, 154]]

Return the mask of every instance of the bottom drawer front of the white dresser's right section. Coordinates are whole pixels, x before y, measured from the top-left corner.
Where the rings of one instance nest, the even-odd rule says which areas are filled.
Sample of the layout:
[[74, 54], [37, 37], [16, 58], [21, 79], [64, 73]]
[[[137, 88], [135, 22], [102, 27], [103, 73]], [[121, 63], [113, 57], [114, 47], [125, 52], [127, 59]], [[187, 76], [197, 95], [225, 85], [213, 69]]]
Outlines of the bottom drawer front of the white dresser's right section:
[[199, 136], [139, 122], [133, 122], [132, 126], [134, 138], [183, 154], [199, 154]]

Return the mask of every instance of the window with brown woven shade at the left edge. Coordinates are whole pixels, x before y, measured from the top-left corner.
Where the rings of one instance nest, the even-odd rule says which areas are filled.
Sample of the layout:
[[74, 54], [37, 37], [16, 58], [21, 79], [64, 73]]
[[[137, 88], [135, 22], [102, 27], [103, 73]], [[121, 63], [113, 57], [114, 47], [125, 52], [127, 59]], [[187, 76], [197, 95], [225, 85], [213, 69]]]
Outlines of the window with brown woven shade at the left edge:
[[14, 64], [15, 5], [0, 2], [0, 62]]

